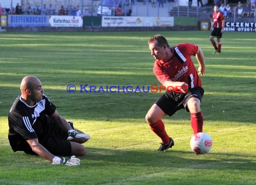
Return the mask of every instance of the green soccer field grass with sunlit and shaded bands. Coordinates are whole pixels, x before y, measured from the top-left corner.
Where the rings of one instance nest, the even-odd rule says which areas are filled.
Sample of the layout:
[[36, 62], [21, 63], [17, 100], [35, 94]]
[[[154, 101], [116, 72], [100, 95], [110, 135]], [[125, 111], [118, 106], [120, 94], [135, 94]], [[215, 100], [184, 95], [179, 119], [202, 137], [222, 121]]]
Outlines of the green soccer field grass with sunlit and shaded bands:
[[[147, 40], [159, 33], [170, 46], [198, 44], [206, 74], [201, 77], [204, 132], [212, 150], [195, 155], [190, 114], [163, 122], [175, 145], [155, 152], [160, 139], [144, 119], [163, 93], [86, 93], [87, 85], [136, 88], [160, 85]], [[214, 55], [209, 31], [0, 33], [0, 184], [40, 185], [253, 185], [256, 183], [256, 36], [225, 32]], [[198, 63], [192, 57], [195, 66]], [[9, 109], [26, 75], [37, 76], [57, 111], [92, 138], [81, 165], [52, 165], [38, 156], [14, 153], [8, 141]], [[69, 84], [76, 86], [68, 93]]]

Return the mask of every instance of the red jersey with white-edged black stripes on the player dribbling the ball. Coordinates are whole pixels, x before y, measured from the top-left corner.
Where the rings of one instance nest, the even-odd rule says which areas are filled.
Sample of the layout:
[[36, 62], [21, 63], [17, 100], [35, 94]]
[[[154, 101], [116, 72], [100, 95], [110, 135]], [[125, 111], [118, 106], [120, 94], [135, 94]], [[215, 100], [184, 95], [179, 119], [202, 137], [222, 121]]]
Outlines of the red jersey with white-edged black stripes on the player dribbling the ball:
[[185, 82], [190, 88], [201, 87], [201, 79], [197, 73], [191, 55], [196, 55], [198, 46], [195, 44], [183, 43], [170, 48], [173, 51], [168, 62], [161, 63], [161, 60], [154, 62], [154, 75], [163, 84], [166, 80]]

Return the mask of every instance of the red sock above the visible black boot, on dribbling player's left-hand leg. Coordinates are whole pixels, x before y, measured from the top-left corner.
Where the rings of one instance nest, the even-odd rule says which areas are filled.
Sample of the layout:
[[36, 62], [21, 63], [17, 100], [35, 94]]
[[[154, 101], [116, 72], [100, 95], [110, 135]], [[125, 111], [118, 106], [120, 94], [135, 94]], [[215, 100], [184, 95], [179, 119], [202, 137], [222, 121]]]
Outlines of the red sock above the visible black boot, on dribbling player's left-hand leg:
[[161, 119], [159, 119], [157, 122], [149, 125], [151, 130], [158, 135], [162, 139], [162, 143], [168, 143], [170, 141], [170, 137], [167, 135], [164, 124]]

